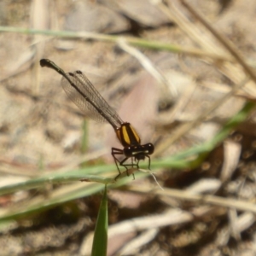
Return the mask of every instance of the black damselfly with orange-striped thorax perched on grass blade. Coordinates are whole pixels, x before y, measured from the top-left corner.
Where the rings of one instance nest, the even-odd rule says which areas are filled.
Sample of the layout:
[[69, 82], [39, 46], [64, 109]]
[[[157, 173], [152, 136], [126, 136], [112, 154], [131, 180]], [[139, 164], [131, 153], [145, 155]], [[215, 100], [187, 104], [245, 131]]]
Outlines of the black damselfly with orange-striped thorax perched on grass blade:
[[[84, 113], [89, 114], [94, 119], [108, 121], [112, 125], [119, 142], [124, 147], [123, 149], [112, 148], [111, 151], [118, 170], [119, 166], [125, 167], [126, 170], [128, 170], [128, 167], [139, 168], [139, 161], [144, 160], [146, 157], [148, 158], [148, 169], [150, 169], [149, 155], [154, 153], [154, 145], [152, 143], [141, 144], [141, 139], [137, 131], [130, 123], [120, 119], [118, 113], [108, 105], [108, 102], [103, 99], [84, 73], [79, 70], [74, 73], [65, 73], [53, 61], [48, 59], [42, 59], [40, 65], [41, 67], [52, 68], [63, 76], [61, 79], [63, 89], [66, 91], [67, 96]], [[119, 160], [119, 155], [124, 155], [124, 159]], [[131, 159], [131, 163], [127, 163], [126, 160], [128, 159]], [[119, 170], [119, 175], [120, 173]]]

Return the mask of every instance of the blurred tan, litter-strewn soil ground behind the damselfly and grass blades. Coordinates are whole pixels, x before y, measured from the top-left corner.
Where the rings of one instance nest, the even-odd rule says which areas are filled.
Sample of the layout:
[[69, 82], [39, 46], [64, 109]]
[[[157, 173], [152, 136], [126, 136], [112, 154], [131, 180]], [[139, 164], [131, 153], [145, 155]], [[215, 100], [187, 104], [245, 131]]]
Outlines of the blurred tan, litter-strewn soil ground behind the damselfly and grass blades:
[[[0, 3], [1, 26], [96, 32], [113, 38], [144, 38], [181, 47], [167, 51], [134, 46], [148, 58], [146, 63], [151, 63], [154, 71], [164, 75], [168, 82], [163, 85], [157, 82], [152, 70], [144, 68], [138, 54], [131, 55], [125, 48], [127, 44], [116, 39], [110, 43], [101, 38], [1, 32], [1, 186], [35, 177], [44, 170], [54, 172], [102, 148], [107, 153], [100, 161], [113, 163], [110, 148], [119, 147], [110, 125], [88, 119], [84, 122], [84, 116], [91, 114], [82, 113], [68, 99], [58, 73], [39, 66], [42, 58], [55, 61], [66, 72], [84, 72], [122, 119], [134, 124], [143, 143], [150, 141], [158, 148], [151, 157], [153, 163], [211, 140], [247, 99], [255, 99], [255, 84], [247, 83], [216, 106], [207, 119], [181, 133], [168, 147], [163, 146], [180, 125], [198, 119], [246, 77], [241, 65], [188, 9], [176, 0], [166, 2], [169, 6], [153, 5], [146, 0], [3, 0]], [[256, 2], [188, 2], [236, 46], [253, 69]], [[165, 7], [170, 11], [169, 16]], [[201, 54], [195, 54], [194, 49]], [[84, 124], [87, 137], [86, 147], [82, 148]], [[159, 166], [153, 170], [166, 191], [214, 195], [226, 202], [235, 201], [237, 206], [201, 203], [191, 197], [186, 200], [183, 194], [178, 198], [167, 192], [160, 195], [140, 191], [139, 188], [157, 187], [153, 177], [135, 179], [130, 188], [110, 189], [110, 229], [113, 224], [122, 229], [125, 220], [137, 218], [148, 224], [147, 228], [109, 236], [108, 255], [256, 255], [255, 209], [242, 204], [253, 205], [256, 198], [255, 126], [251, 113], [195, 168]], [[160, 150], [161, 147], [164, 149]], [[90, 164], [96, 162], [92, 159]], [[59, 187], [46, 185], [42, 190], [3, 195], [1, 211], [38, 195], [47, 199]], [[86, 255], [84, 241], [94, 230], [101, 197], [101, 194], [90, 195], [15, 219], [12, 224], [4, 223], [0, 230], [3, 250], [0, 254]], [[158, 224], [161, 219], [163, 224]], [[130, 241], [142, 242], [140, 246], [129, 244], [129, 253], [125, 253], [125, 245]]]

